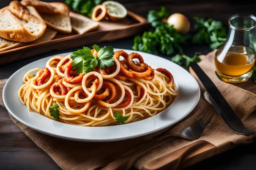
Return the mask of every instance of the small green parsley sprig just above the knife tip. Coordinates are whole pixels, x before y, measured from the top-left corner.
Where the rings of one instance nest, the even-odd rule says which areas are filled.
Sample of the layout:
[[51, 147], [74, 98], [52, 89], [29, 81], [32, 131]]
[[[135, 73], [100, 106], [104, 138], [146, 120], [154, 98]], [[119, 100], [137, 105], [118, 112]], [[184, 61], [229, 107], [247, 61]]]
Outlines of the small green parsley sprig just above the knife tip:
[[200, 62], [201, 59], [200, 57], [198, 57], [199, 53], [195, 53], [195, 55], [193, 57], [189, 57], [187, 55], [180, 55], [177, 54], [174, 57], [171, 58], [172, 62], [175, 62], [176, 64], [182, 65], [182, 61], [185, 62], [186, 67], [188, 68], [190, 66], [191, 62]]

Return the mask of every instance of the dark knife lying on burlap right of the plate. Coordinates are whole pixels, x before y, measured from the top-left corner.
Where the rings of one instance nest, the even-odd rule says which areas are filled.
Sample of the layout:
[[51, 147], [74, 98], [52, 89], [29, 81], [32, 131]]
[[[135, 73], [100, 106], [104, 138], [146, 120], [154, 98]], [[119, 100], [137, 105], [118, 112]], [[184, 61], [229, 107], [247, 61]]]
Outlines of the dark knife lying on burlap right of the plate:
[[254, 135], [255, 132], [247, 129], [244, 126], [242, 121], [236, 115], [236, 113], [228, 104], [226, 99], [222, 96], [222, 94], [220, 93], [218, 88], [215, 86], [215, 84], [213, 84], [211, 79], [204, 73], [202, 68], [200, 68], [200, 66], [198, 66], [196, 62], [191, 62], [190, 66], [195, 72], [195, 74], [198, 76], [198, 78], [200, 79], [200, 81], [202, 82], [206, 90], [208, 91], [209, 100], [213, 108], [215, 108], [215, 110], [226, 122], [229, 128], [237, 134]]

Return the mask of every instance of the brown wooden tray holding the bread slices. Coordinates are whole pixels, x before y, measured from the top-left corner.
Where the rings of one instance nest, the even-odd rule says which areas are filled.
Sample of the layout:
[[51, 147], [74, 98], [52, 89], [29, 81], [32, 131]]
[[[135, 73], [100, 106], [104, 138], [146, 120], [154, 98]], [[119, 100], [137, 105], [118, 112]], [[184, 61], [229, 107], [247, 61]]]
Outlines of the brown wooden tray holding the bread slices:
[[150, 25], [145, 18], [128, 11], [127, 17], [120, 22], [99, 22], [99, 28], [96, 31], [91, 31], [82, 35], [74, 32], [70, 34], [58, 33], [53, 40], [38, 44], [26, 43], [25, 46], [23, 45], [14, 49], [2, 51], [0, 52], [0, 65], [52, 50], [70, 49], [90, 43], [129, 37], [146, 30], [149, 26]]

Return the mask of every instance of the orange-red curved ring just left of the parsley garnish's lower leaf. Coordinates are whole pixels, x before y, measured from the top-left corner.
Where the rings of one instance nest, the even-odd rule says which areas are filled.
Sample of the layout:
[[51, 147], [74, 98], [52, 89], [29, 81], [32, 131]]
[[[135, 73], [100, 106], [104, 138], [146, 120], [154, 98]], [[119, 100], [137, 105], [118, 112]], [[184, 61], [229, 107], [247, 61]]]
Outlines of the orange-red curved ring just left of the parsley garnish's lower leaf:
[[83, 75], [84, 74], [79, 74], [76, 77], [73, 77], [71, 74], [76, 75], [77, 73], [72, 72], [72, 60], [67, 63], [67, 68], [65, 70], [65, 82], [70, 83], [70, 84], [79, 84], [82, 82]]

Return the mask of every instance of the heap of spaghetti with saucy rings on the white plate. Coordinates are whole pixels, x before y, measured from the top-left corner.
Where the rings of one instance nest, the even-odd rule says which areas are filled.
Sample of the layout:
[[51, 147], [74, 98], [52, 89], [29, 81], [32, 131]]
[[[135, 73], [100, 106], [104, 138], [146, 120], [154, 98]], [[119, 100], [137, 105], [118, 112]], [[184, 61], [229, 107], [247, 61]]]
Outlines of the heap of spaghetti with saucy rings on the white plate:
[[[97, 51], [92, 53], [97, 56]], [[171, 73], [151, 68], [138, 53], [116, 51], [112, 58], [110, 68], [78, 74], [72, 71], [70, 55], [52, 57], [45, 68], [24, 75], [20, 102], [28, 110], [63, 123], [111, 126], [117, 124], [116, 112], [127, 117], [126, 124], [139, 121], [161, 112], [178, 95]], [[54, 104], [59, 106], [59, 119], [49, 112]]]

